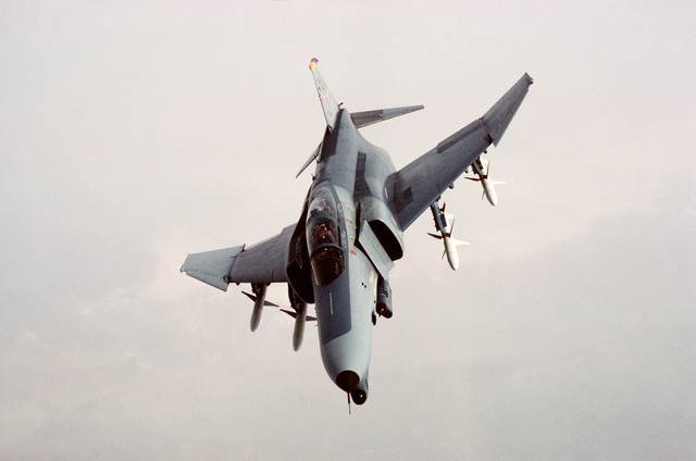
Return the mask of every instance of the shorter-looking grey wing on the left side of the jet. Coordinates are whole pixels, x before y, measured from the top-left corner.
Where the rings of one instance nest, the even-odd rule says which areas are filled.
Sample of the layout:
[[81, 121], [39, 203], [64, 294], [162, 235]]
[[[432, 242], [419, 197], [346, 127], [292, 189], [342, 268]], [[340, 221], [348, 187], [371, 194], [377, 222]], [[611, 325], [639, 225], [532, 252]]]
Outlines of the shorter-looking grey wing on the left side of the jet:
[[295, 224], [256, 244], [188, 254], [181, 271], [223, 291], [231, 283], [287, 282], [285, 264]]

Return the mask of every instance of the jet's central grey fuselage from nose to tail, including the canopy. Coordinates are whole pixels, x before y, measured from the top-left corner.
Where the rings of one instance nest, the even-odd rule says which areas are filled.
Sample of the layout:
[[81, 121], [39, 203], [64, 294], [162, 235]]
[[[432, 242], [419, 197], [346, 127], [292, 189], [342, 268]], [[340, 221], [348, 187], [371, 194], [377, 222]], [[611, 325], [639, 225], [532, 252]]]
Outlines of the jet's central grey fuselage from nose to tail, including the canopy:
[[[378, 200], [393, 209], [388, 179], [395, 167], [386, 151], [358, 133], [346, 110], [327, 132], [319, 160], [307, 238], [322, 361], [338, 387], [347, 393], [364, 389], [366, 398], [381, 275], [358, 241], [359, 227], [369, 225], [361, 208], [368, 200]], [[358, 402], [356, 394], [353, 400]]]

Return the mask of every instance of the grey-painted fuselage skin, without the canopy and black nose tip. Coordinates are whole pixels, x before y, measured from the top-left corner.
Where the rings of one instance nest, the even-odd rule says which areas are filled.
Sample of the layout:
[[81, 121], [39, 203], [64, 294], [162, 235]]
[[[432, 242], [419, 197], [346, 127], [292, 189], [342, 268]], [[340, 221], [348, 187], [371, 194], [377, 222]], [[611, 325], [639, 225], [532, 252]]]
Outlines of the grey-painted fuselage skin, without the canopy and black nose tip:
[[[337, 202], [340, 247], [345, 270], [325, 286], [314, 283], [320, 347], [324, 367], [332, 379], [344, 371], [360, 378], [368, 374], [372, 342], [372, 315], [376, 306], [378, 273], [358, 246], [359, 203], [370, 197], [394, 209], [385, 188], [395, 167], [389, 155], [358, 133], [350, 114], [341, 110], [326, 133], [312, 191], [331, 195]], [[308, 217], [308, 223], [312, 217]], [[368, 225], [366, 223], [364, 225]], [[321, 277], [320, 277], [321, 278]]]

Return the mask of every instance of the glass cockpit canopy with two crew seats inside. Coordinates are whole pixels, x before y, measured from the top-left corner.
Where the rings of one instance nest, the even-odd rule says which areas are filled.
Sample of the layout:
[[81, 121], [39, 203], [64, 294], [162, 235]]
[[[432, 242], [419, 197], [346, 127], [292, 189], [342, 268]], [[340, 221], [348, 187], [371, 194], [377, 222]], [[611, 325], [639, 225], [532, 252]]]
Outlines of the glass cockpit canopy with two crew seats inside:
[[324, 287], [338, 278], [346, 269], [346, 261], [340, 246], [336, 202], [330, 190], [318, 194], [310, 203], [307, 244], [316, 285]]

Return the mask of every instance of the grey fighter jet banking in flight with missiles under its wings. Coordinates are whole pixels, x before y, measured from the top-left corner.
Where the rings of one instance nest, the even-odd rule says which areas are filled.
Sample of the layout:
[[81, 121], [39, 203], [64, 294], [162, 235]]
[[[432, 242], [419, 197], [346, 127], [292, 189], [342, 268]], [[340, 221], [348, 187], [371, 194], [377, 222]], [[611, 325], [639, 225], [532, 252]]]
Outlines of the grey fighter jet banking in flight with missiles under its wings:
[[[231, 283], [251, 284], [253, 294], [246, 295], [254, 301], [252, 331], [263, 307], [275, 306], [265, 301], [268, 285], [286, 283], [293, 308], [286, 312], [295, 317], [295, 350], [301, 345], [306, 321], [316, 320], [328, 377], [349, 395], [349, 403], [352, 399], [362, 404], [368, 399], [372, 327], [377, 316], [393, 314], [389, 271], [403, 257], [402, 233], [432, 209], [440, 230], [451, 236], [449, 225], [436, 215], [444, 211], [437, 200], [472, 164], [483, 182], [478, 157], [500, 142], [533, 79], [524, 74], [483, 117], [397, 171], [388, 153], [358, 129], [423, 107], [350, 113], [336, 103], [316, 59], [309, 67], [326, 130], [298, 173], [316, 161], [299, 220], [250, 247], [188, 254], [182, 272], [221, 290]], [[307, 315], [311, 303], [315, 319]]]

